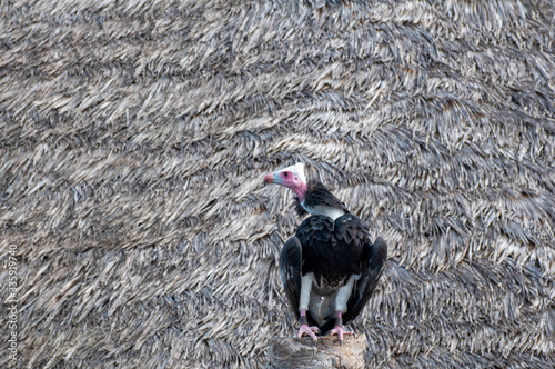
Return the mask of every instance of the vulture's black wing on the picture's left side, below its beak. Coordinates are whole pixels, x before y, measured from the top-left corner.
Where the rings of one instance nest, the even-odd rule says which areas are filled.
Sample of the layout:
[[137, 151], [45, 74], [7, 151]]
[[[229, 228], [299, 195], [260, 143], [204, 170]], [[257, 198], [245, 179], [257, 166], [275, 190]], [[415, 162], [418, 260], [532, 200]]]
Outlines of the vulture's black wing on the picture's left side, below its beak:
[[300, 318], [301, 268], [303, 249], [296, 237], [290, 238], [280, 253], [280, 275], [291, 309]]

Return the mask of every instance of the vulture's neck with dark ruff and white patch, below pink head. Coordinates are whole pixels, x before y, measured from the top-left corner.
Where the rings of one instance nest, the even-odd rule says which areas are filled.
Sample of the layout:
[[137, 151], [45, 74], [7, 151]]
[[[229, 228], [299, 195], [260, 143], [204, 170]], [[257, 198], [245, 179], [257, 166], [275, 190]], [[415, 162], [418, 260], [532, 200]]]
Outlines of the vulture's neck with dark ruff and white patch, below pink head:
[[302, 198], [296, 198], [296, 211], [300, 216], [305, 212], [312, 216], [325, 216], [332, 220], [349, 212], [340, 199], [337, 199], [322, 182], [309, 182], [306, 192]]

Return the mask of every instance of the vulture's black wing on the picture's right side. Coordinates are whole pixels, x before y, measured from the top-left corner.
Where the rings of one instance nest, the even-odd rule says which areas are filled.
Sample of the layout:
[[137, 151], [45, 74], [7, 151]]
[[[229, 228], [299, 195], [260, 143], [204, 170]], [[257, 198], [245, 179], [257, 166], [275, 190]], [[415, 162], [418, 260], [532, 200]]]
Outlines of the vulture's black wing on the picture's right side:
[[347, 301], [347, 311], [343, 315], [346, 325], [362, 311], [376, 288], [377, 280], [382, 275], [385, 259], [387, 258], [387, 245], [379, 237], [374, 245], [366, 243], [362, 251], [362, 276]]

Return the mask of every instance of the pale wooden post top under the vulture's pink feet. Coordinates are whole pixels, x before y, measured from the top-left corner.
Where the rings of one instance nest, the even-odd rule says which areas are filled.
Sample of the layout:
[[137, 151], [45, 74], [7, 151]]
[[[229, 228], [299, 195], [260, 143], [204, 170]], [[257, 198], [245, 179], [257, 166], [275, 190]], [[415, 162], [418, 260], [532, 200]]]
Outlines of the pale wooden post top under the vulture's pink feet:
[[309, 337], [274, 338], [269, 342], [266, 369], [274, 368], [364, 368], [366, 336], [347, 336], [340, 346], [337, 337], [319, 337], [317, 346]]

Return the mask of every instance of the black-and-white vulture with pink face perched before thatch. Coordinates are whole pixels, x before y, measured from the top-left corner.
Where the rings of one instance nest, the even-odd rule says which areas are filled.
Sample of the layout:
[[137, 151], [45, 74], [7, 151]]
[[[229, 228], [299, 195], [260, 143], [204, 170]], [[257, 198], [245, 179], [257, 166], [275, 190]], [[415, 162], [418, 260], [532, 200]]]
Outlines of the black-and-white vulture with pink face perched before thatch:
[[296, 163], [264, 176], [264, 184], [292, 190], [304, 219], [280, 253], [280, 275], [291, 308], [300, 322], [297, 337], [336, 335], [340, 345], [349, 323], [374, 291], [387, 246], [370, 240], [369, 226], [351, 213], [322, 182], [306, 181], [304, 164]]

